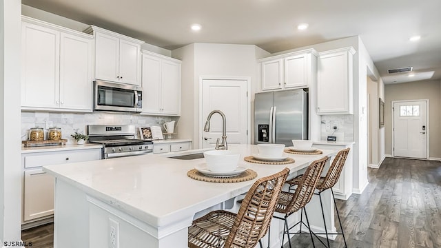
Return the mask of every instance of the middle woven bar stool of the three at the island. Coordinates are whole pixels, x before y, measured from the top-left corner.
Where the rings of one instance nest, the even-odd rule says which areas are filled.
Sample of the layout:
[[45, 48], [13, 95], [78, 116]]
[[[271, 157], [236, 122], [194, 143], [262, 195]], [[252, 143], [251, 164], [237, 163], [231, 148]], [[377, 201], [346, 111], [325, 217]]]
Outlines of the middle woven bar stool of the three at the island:
[[[299, 221], [298, 223], [296, 223], [296, 225], [289, 227], [287, 218], [291, 216], [291, 214], [296, 213], [300, 209], [302, 210], [302, 212], [304, 211], [307, 221], [307, 227], [308, 229], [310, 229], [305, 205], [309, 203], [309, 200], [311, 200], [312, 196], [314, 195], [314, 189], [316, 189], [316, 185], [318, 183], [318, 180], [320, 179], [320, 175], [322, 174], [327, 159], [327, 157], [324, 157], [312, 162], [311, 165], [307, 167], [305, 174], [297, 177], [298, 185], [294, 192], [280, 192], [276, 209], [274, 211], [280, 214], [285, 214], [285, 216], [283, 218], [274, 216], [274, 218], [285, 221], [285, 226], [283, 227], [282, 247], [283, 242], [285, 241], [285, 234], [287, 234], [289, 247], [291, 248], [291, 239], [289, 238], [289, 234], [292, 233], [289, 233], [290, 229], [296, 227], [296, 225], [298, 224], [300, 224], [300, 227], [302, 224], [305, 225], [305, 223]], [[313, 233], [311, 231], [309, 232], [309, 235], [311, 236], [312, 245], [316, 247], [316, 245], [314, 245], [314, 239], [312, 238]]]

